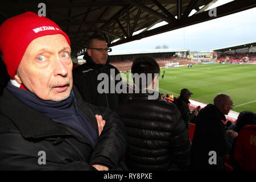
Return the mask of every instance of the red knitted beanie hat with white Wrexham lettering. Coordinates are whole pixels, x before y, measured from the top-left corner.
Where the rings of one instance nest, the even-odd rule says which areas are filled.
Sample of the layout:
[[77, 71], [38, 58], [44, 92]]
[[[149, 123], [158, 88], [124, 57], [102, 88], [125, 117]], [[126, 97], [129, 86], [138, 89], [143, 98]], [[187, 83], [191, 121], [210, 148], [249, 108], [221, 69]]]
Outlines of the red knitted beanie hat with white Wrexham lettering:
[[52, 20], [27, 12], [7, 19], [0, 27], [0, 50], [7, 72], [14, 79], [24, 52], [32, 40], [45, 35], [61, 34], [70, 46], [68, 35]]

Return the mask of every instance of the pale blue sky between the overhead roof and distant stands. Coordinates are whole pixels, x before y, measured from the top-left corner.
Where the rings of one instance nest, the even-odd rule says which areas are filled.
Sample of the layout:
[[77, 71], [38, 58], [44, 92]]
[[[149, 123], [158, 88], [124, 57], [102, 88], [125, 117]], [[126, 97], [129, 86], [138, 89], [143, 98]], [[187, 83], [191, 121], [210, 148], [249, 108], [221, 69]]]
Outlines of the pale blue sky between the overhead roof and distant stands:
[[[226, 0], [221, 0], [230, 2]], [[213, 6], [212, 6], [213, 8]], [[194, 24], [192, 26], [150, 36], [112, 47], [115, 51], [155, 49], [166, 45], [170, 49], [207, 51], [238, 44], [256, 42], [256, 7], [240, 13]]]

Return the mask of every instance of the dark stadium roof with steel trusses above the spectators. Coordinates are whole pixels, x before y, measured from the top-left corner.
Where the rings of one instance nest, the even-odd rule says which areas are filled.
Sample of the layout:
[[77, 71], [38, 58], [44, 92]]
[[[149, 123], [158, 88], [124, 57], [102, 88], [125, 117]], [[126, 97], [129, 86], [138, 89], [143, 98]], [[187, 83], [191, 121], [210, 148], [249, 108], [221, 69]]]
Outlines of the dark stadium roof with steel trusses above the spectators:
[[[256, 7], [255, 0], [236, 0], [204, 11], [217, 0], [5, 0], [0, 1], [0, 24], [26, 11], [38, 13], [45, 3], [46, 16], [71, 39], [72, 56], [81, 54], [93, 34], [102, 34], [109, 46], [139, 40], [195, 23]], [[201, 6], [204, 6], [200, 9]], [[192, 10], [197, 12], [191, 16]], [[209, 12], [210, 11], [210, 12]], [[149, 30], [159, 22], [168, 24]], [[137, 35], [134, 32], [143, 30]], [[117, 40], [119, 39], [119, 40]], [[116, 42], [113, 42], [113, 41]]]

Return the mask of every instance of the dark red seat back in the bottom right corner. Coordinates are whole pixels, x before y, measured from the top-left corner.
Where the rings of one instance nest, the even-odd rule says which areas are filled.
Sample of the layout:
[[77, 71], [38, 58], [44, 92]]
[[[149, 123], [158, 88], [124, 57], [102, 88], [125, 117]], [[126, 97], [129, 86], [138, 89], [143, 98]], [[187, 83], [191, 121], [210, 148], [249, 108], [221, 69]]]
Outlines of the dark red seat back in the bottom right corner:
[[242, 170], [256, 170], [256, 125], [243, 126], [237, 137], [234, 160]]

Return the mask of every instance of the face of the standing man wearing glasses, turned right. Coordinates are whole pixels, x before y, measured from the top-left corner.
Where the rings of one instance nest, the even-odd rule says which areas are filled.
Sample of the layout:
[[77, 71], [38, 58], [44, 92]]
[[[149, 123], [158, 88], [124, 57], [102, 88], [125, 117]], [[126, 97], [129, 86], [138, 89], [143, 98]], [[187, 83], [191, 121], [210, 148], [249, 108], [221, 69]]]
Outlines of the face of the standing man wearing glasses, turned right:
[[94, 39], [92, 42], [92, 45], [87, 49], [88, 55], [92, 58], [94, 63], [96, 64], [106, 64], [106, 60], [108, 59], [108, 51], [105, 50], [96, 50], [96, 49], [90, 49], [90, 48], [101, 48], [106, 49], [108, 48], [107, 43], [102, 40]]

